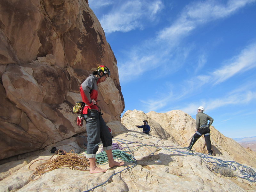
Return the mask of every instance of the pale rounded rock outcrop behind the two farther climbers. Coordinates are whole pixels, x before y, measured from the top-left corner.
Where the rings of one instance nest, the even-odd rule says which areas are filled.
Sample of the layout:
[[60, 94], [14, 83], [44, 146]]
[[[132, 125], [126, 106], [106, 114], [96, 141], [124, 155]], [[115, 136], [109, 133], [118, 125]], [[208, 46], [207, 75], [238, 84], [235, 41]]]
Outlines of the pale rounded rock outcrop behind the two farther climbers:
[[[151, 128], [150, 135], [171, 140], [175, 144], [174, 146], [181, 144], [180, 147], [188, 147], [190, 139], [195, 133], [195, 119], [180, 110], [172, 110], [167, 113], [151, 111], [147, 114], [143, 111], [128, 110], [122, 117], [122, 124], [129, 130], [139, 131], [132, 121], [141, 125], [144, 119], [148, 120]], [[210, 129], [214, 156], [227, 157], [229, 160], [256, 167], [255, 152], [245, 149], [235, 140], [225, 137], [214, 126], [211, 126]], [[163, 138], [163, 135], [166, 137]], [[208, 152], [203, 136], [196, 141], [192, 149], [200, 153]]]

